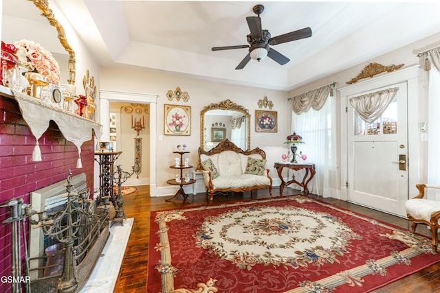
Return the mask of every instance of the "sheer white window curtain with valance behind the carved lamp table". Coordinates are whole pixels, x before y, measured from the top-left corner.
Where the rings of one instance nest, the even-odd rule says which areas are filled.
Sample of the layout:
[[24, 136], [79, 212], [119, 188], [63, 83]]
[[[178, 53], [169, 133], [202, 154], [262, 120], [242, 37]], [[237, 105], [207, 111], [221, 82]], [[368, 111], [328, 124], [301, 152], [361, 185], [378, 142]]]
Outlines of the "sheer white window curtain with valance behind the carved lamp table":
[[[336, 103], [333, 94], [334, 84], [325, 86], [326, 89], [314, 90], [315, 93], [305, 93], [292, 97], [292, 133], [296, 132], [303, 137], [305, 143], [297, 144], [298, 151], [307, 155], [305, 163], [314, 163], [316, 174], [309, 182], [309, 191], [324, 198], [339, 198], [338, 188], [338, 167], [336, 159]], [[324, 93], [324, 95], [322, 94]], [[305, 101], [308, 96], [315, 101]], [[308, 110], [300, 114], [295, 110], [298, 104], [319, 105], [316, 110], [310, 106]], [[304, 108], [304, 107], [303, 107]], [[302, 159], [297, 159], [298, 163], [303, 163]], [[302, 180], [304, 172], [292, 172], [297, 180]], [[289, 185], [298, 188], [297, 185]]]

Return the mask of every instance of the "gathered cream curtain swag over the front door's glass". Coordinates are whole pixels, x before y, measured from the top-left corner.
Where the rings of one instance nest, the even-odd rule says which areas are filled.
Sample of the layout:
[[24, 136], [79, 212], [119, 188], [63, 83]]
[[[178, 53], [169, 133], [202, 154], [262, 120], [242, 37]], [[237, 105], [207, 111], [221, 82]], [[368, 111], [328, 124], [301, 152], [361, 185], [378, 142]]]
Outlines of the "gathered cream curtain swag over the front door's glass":
[[384, 113], [386, 107], [393, 102], [398, 90], [399, 88], [385, 89], [367, 95], [360, 95], [359, 97], [352, 97], [350, 104], [362, 120], [366, 123], [373, 123]]

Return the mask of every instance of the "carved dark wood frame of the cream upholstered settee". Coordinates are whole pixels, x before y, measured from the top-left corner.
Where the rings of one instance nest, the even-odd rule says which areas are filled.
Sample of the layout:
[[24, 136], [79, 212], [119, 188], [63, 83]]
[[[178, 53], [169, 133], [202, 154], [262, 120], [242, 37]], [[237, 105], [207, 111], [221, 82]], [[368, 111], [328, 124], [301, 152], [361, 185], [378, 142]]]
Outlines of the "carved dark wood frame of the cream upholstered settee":
[[[225, 139], [221, 143], [219, 143], [215, 148], [212, 148], [211, 150], [203, 150], [203, 148], [199, 147], [199, 161], [200, 161], [200, 155], [206, 154], [207, 156], [212, 156], [213, 154], [220, 154], [221, 152], [224, 152], [226, 150], [230, 150], [232, 152], [236, 152], [237, 154], [244, 154], [246, 156], [250, 154], [259, 154], [263, 159], [266, 159], [266, 153], [264, 150], [261, 150], [261, 148], [254, 148], [253, 150], [241, 150], [241, 148], [237, 147], [232, 141], [229, 139]], [[251, 191], [254, 189], [263, 189], [269, 187], [269, 194], [272, 196], [272, 178], [269, 176], [269, 169], [266, 169], [267, 172], [267, 178], [270, 180], [270, 185], [255, 185], [250, 187], [239, 187], [239, 188], [223, 188], [223, 189], [214, 189], [214, 185], [212, 184], [211, 179], [211, 173], [209, 173], [209, 183], [208, 183], [208, 190], [210, 194], [210, 202], [212, 202], [212, 199], [214, 197], [214, 192], [228, 192], [228, 191], [234, 191], [234, 192], [245, 192], [245, 191]]]

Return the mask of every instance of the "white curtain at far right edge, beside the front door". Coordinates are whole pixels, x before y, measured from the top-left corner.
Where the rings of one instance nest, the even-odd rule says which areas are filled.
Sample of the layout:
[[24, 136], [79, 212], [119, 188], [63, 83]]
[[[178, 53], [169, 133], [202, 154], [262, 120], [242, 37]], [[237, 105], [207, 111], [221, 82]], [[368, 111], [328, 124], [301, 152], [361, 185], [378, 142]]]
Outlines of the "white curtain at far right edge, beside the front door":
[[[440, 185], [440, 48], [423, 54], [429, 72], [428, 89], [428, 184]], [[430, 67], [430, 61], [434, 67]], [[440, 191], [428, 189], [428, 199], [440, 201]]]

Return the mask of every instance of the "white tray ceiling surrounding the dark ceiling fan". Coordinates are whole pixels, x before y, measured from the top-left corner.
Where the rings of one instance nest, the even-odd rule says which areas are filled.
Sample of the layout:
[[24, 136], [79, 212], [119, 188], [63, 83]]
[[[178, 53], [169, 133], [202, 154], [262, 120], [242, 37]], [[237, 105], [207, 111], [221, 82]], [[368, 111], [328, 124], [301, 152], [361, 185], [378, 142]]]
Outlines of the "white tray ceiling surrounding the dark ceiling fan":
[[[31, 17], [11, 8], [21, 1], [29, 2], [3, 0], [3, 17]], [[439, 1], [49, 2], [58, 5], [103, 66], [135, 66], [285, 91], [440, 32]], [[256, 4], [265, 6], [262, 26], [272, 36], [304, 27], [311, 27], [312, 36], [274, 46], [290, 58], [286, 65], [265, 58], [235, 70], [248, 49], [210, 48], [248, 45], [245, 17], [255, 16]], [[38, 12], [32, 12], [32, 20], [38, 21]]]

